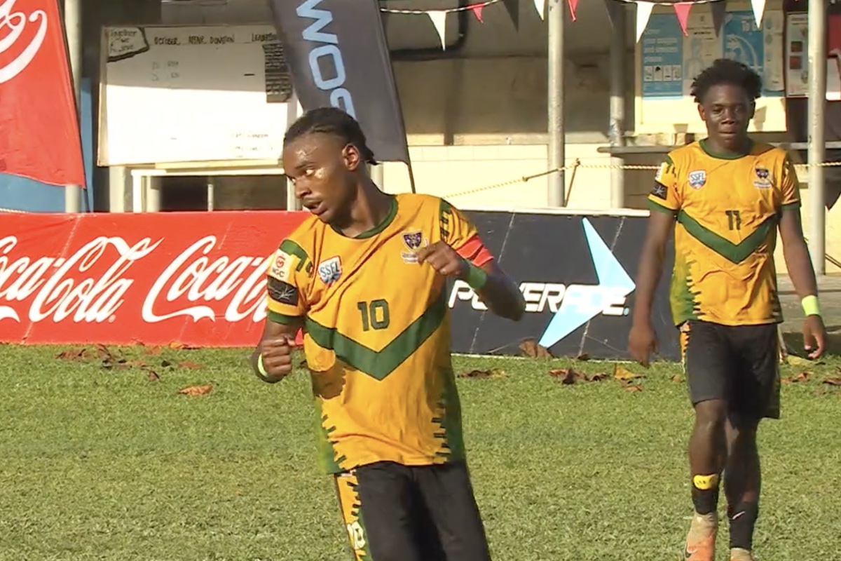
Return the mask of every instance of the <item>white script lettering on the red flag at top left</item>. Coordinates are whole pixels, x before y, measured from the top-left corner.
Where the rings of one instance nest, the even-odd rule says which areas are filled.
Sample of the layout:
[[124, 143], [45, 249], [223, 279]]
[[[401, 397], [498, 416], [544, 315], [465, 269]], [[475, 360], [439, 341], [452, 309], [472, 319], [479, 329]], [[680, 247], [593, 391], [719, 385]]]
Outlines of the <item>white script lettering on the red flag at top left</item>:
[[[14, 3], [16, 0], [0, 0], [0, 61], [4, 58], [3, 54], [10, 52], [13, 56], [11, 61], [3, 64], [0, 62], [0, 84], [12, 80], [18, 76], [24, 69], [33, 61], [35, 55], [44, 44], [47, 34], [47, 14], [44, 10], [34, 10], [33, 13], [26, 16], [23, 12], [13, 12]], [[34, 30], [34, 36], [29, 40], [29, 44], [25, 45], [20, 50], [17, 56], [14, 56], [13, 47], [18, 43], [24, 31], [28, 28], [28, 24], [38, 23], [38, 29]]]

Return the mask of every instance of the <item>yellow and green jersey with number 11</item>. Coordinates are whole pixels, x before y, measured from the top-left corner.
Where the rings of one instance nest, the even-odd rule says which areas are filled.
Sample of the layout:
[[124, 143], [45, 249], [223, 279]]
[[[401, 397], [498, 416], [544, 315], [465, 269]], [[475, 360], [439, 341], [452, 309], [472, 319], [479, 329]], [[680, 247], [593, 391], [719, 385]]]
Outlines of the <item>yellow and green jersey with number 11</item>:
[[674, 214], [671, 309], [675, 325], [780, 322], [774, 249], [784, 209], [799, 209], [800, 187], [780, 148], [711, 153], [704, 141], [671, 151], [648, 195], [653, 211]]

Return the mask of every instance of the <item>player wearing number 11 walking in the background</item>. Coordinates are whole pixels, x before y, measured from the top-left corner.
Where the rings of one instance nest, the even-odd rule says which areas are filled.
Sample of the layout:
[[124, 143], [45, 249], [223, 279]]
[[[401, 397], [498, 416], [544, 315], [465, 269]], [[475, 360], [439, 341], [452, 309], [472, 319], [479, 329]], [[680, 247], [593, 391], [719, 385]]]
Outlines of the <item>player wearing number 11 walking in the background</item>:
[[648, 195], [652, 212], [628, 347], [643, 365], [656, 351], [649, 316], [674, 231], [671, 309], [695, 407], [689, 444], [695, 516], [685, 544], [691, 561], [714, 558], [722, 474], [730, 559], [754, 559], [756, 431], [762, 418], [780, 416], [777, 228], [806, 315], [803, 341], [810, 357], [820, 356], [826, 338], [801, 230], [796, 172], [785, 151], [748, 137], [761, 92], [759, 75], [736, 61], [721, 59], [702, 71], [692, 95], [706, 139], [669, 153]]

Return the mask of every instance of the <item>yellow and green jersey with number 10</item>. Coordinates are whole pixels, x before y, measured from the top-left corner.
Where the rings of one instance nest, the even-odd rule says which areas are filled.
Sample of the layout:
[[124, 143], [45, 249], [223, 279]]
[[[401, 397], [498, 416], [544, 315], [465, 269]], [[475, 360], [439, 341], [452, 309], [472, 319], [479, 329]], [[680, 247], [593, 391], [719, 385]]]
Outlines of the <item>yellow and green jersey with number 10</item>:
[[272, 260], [268, 319], [304, 320], [328, 473], [464, 457], [446, 279], [416, 257], [436, 241], [477, 265], [491, 258], [446, 201], [400, 194], [381, 225], [355, 238], [309, 217]]

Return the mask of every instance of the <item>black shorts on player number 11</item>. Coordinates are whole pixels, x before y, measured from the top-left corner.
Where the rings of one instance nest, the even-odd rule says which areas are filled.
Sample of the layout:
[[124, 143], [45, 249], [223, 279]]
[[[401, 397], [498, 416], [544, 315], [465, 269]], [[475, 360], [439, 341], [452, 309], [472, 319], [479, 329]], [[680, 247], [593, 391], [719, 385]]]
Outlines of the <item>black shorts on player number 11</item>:
[[732, 420], [780, 418], [777, 325], [680, 325], [680, 349], [692, 405], [725, 400]]

